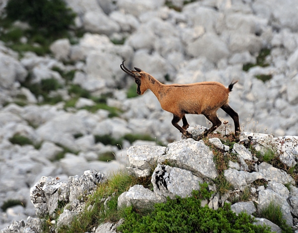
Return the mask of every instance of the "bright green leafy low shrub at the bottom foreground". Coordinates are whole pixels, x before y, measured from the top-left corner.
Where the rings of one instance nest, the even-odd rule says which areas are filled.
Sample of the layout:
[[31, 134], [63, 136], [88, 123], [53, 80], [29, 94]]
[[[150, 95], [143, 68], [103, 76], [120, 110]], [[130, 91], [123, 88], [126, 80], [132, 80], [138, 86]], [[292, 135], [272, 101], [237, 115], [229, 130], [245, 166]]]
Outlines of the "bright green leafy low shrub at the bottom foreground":
[[[193, 191], [192, 197], [170, 200], [154, 205], [145, 213], [133, 207], [125, 209], [124, 224], [118, 227], [123, 233], [269, 233], [268, 227], [253, 225], [253, 218], [246, 214], [235, 214], [230, 205], [218, 210], [207, 205], [201, 207], [201, 199], [211, 197], [207, 184], [201, 184], [200, 191]], [[207, 195], [208, 194], [208, 195]]]

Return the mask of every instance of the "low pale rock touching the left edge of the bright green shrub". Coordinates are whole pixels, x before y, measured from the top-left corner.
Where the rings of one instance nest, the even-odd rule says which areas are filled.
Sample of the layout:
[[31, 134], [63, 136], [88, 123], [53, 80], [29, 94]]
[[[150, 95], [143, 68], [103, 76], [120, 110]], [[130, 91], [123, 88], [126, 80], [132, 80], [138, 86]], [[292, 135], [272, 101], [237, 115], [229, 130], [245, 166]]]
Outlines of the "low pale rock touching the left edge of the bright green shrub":
[[165, 201], [165, 198], [156, 196], [143, 185], [135, 185], [118, 197], [118, 208], [133, 205], [136, 208], [150, 208], [154, 203]]

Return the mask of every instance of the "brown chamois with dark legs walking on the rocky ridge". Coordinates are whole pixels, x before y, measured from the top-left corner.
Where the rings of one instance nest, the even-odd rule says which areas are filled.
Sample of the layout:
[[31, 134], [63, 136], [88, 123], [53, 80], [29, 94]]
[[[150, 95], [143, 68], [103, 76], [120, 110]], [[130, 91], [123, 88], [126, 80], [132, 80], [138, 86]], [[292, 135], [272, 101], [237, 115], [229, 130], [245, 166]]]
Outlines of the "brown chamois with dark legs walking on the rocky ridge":
[[[192, 138], [192, 134], [186, 129], [189, 124], [185, 114], [203, 114], [212, 122], [212, 127], [202, 135], [216, 130], [222, 122], [217, 117], [217, 110], [222, 108], [234, 121], [235, 135], [240, 132], [238, 114], [228, 105], [228, 94], [237, 81], [232, 81], [226, 88], [222, 83], [216, 81], [204, 81], [191, 84], [162, 84], [148, 73], [135, 67], [136, 71], [131, 71], [124, 66], [124, 61], [120, 68], [128, 75], [135, 78], [137, 83], [137, 93], [143, 95], [147, 89], [150, 89], [157, 97], [161, 108], [173, 113], [172, 120], [175, 126], [185, 137]], [[182, 119], [183, 126], [178, 122]]]

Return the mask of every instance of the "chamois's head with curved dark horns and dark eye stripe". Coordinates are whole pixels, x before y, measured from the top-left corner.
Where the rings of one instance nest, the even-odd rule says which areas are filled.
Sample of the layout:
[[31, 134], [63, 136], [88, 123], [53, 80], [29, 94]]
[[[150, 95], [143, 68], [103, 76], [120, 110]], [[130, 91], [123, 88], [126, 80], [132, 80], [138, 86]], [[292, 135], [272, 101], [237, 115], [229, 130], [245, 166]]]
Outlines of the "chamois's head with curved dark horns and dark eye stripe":
[[[124, 66], [124, 62], [120, 65], [121, 70], [123, 70], [126, 74], [130, 75], [131, 77], [135, 78], [135, 82], [137, 83], [137, 93], [138, 95], [143, 95], [144, 92], [149, 88], [148, 86], [148, 78], [151, 77], [146, 72], [142, 71], [139, 68], [135, 67], [135, 71], [131, 71]], [[151, 80], [151, 78], [149, 78]]]

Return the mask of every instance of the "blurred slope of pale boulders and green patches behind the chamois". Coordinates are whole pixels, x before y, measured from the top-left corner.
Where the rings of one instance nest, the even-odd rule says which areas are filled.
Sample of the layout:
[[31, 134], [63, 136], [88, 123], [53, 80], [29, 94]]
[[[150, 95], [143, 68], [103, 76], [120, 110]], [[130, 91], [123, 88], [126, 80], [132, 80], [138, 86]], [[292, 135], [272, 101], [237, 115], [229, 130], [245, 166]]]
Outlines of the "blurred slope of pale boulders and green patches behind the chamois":
[[0, 229], [35, 216], [41, 176], [108, 173], [131, 145], [181, 138], [123, 60], [163, 83], [239, 80], [242, 131], [298, 135], [297, 12], [297, 0], [0, 0]]

